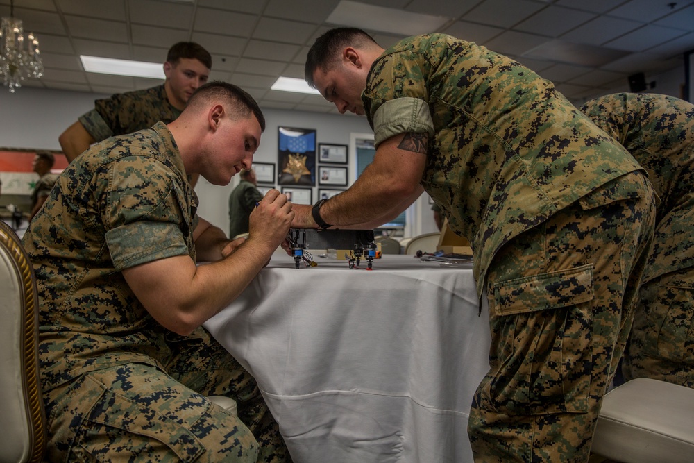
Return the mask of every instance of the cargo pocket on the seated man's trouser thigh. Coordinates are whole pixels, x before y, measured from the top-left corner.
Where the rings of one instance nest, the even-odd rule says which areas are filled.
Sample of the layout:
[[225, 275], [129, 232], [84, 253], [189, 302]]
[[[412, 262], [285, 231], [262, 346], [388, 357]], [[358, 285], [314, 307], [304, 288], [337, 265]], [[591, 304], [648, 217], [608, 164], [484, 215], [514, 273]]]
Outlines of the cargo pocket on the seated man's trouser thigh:
[[[94, 397], [96, 389], [101, 389], [101, 395], [96, 401], [82, 404], [87, 405], [84, 410], [76, 410], [76, 417], [82, 423], [76, 430], [73, 453], [87, 452], [97, 461], [110, 460], [108, 453], [119, 446], [126, 445], [135, 451], [137, 436], [142, 436], [142, 441], [161, 442], [182, 462], [193, 462], [205, 452], [203, 444], [190, 430], [167, 416], [105, 389], [89, 376], [83, 387], [87, 389], [87, 396]], [[94, 439], [95, 435], [99, 439]], [[137, 455], [137, 458], [154, 460], [148, 455]]]

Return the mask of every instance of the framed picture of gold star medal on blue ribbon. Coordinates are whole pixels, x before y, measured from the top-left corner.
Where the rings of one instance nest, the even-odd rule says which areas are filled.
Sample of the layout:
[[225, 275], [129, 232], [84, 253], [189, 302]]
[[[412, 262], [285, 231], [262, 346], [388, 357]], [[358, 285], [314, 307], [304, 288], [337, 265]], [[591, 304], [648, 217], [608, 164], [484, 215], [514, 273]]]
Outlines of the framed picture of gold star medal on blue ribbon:
[[316, 131], [278, 127], [278, 185], [316, 185]]

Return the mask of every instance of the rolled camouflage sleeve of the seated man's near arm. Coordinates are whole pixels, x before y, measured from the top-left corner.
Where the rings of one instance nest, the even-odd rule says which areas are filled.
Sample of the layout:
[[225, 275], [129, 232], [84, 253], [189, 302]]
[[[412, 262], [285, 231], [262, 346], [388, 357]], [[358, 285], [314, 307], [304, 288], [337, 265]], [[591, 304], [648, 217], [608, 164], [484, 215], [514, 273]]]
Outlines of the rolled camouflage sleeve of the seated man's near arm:
[[101, 195], [102, 220], [117, 271], [189, 254], [184, 233], [191, 233], [192, 221], [185, 217], [175, 176], [167, 167], [151, 158], [130, 156], [112, 162], [101, 177], [108, 185]]

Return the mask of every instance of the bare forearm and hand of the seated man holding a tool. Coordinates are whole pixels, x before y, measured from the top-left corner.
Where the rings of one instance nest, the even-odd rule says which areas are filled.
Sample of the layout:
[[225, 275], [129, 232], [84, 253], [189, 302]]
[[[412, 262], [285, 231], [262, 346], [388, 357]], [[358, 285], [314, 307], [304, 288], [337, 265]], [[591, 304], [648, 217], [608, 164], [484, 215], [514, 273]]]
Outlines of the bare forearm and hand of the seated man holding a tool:
[[[226, 258], [196, 266], [189, 256], [178, 255], [125, 269], [123, 276], [156, 321], [188, 335], [242, 293], [287, 237], [293, 218], [287, 197], [271, 190], [251, 214], [250, 236]], [[227, 255], [219, 249], [217, 230], [206, 221], [198, 223], [196, 251], [206, 257]]]

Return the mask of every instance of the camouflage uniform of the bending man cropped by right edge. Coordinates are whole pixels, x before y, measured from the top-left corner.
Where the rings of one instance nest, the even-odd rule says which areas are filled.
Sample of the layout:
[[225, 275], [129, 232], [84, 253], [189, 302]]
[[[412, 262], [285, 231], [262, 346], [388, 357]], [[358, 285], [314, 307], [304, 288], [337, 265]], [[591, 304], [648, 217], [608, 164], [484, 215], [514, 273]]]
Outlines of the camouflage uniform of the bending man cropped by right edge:
[[613, 94], [581, 110], [648, 171], [661, 199], [625, 351], [625, 378], [694, 387], [694, 105], [657, 94]]

